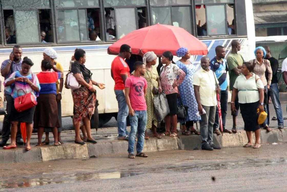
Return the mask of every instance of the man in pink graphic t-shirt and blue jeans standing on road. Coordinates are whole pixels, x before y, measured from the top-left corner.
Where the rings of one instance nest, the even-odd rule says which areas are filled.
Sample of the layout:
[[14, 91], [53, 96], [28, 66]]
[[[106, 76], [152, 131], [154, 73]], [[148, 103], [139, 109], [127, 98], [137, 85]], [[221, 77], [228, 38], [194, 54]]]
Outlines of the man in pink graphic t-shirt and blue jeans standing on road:
[[144, 98], [148, 83], [144, 77], [146, 73], [146, 65], [137, 61], [134, 64], [135, 73], [134, 75], [127, 78], [125, 81], [125, 99], [129, 107], [129, 121], [131, 123], [131, 132], [129, 134], [129, 158], [134, 159], [134, 144], [135, 134], [137, 136], [137, 154], [138, 157], [148, 157], [143, 153], [144, 149], [144, 135], [146, 132], [146, 100]]

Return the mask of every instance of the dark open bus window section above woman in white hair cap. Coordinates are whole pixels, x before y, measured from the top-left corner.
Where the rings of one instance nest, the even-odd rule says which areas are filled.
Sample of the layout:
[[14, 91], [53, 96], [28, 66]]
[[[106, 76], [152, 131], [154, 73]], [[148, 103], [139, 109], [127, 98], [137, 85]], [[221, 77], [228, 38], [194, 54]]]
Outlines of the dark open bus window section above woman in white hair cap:
[[41, 43], [54, 42], [51, 10], [40, 9], [39, 10], [39, 21], [40, 21]]

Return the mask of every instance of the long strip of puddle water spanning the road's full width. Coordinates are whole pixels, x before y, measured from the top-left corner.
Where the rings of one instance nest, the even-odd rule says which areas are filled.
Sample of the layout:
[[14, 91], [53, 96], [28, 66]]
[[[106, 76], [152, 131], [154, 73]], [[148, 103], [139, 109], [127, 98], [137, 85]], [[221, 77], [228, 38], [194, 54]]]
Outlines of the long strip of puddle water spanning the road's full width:
[[[22, 187], [34, 187], [48, 184], [74, 183], [77, 181], [92, 181], [97, 179], [115, 179], [136, 176], [139, 174], [164, 173], [167, 171], [192, 172], [194, 170], [220, 170], [220, 169], [238, 169], [241, 167], [261, 167], [274, 164], [285, 164], [286, 159], [246, 159], [245, 161], [221, 162], [216, 164], [196, 164], [192, 166], [168, 166], [166, 168], [145, 169], [146, 172], [139, 173], [137, 168], [129, 172], [85, 172], [83, 170], [74, 170], [73, 173], [53, 172], [42, 173], [40, 175], [27, 176], [22, 178], [6, 178], [0, 181], [0, 191], [6, 189], [17, 189]], [[75, 173], [76, 172], [76, 173]]]

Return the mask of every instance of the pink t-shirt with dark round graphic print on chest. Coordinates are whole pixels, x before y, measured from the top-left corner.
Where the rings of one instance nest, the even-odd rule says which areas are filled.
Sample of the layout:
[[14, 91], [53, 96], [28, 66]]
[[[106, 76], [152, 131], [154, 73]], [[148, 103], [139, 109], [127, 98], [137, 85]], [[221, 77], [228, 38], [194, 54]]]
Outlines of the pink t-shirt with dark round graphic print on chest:
[[146, 111], [146, 100], [144, 98], [144, 89], [148, 87], [146, 79], [132, 75], [125, 80], [125, 87], [130, 88], [131, 108], [136, 111]]

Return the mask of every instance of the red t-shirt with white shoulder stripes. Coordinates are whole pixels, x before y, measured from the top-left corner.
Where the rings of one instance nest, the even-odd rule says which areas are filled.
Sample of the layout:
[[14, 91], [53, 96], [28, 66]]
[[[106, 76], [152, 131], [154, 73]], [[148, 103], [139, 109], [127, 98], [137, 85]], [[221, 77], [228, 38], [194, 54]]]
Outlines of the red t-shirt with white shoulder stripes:
[[125, 89], [125, 83], [121, 75], [130, 76], [129, 66], [125, 60], [122, 57], [117, 56], [112, 62], [111, 71], [115, 80], [115, 90]]

